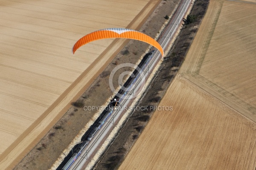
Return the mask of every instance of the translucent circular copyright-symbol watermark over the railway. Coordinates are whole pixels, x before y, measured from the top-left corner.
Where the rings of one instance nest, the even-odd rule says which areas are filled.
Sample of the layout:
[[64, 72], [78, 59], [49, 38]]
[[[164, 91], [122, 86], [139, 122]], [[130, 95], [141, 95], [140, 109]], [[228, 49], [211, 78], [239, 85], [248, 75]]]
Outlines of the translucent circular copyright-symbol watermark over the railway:
[[[116, 71], [118, 71], [121, 68], [135, 68], [134, 72], [131, 71], [123, 71], [119, 77], [118, 77], [118, 84], [121, 86], [121, 89], [119, 91], [116, 91], [113, 85], [113, 77], [116, 74]], [[130, 75], [131, 77], [128, 79], [129, 82], [124, 83], [123, 85], [123, 78], [126, 75]], [[133, 99], [140, 95], [140, 93], [145, 88], [145, 73], [143, 70], [141, 70], [137, 65], [134, 65], [132, 63], [123, 63], [120, 65], [117, 65], [110, 73], [108, 83], [111, 91], [116, 94], [116, 96], [119, 97], [119, 99], [122, 99], [124, 96], [126, 99]]]

